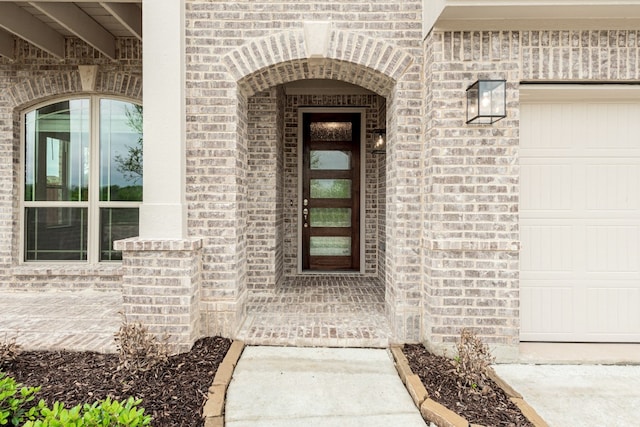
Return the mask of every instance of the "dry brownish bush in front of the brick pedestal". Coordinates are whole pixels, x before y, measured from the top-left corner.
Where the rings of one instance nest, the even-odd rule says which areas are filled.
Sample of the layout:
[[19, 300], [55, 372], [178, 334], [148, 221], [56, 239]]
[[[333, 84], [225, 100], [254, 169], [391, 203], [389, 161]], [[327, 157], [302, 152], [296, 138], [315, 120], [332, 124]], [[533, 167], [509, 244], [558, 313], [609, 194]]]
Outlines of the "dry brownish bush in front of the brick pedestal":
[[159, 341], [140, 323], [129, 323], [123, 317], [120, 329], [115, 333], [115, 340], [118, 370], [124, 370], [131, 375], [150, 371], [168, 360], [166, 338]]

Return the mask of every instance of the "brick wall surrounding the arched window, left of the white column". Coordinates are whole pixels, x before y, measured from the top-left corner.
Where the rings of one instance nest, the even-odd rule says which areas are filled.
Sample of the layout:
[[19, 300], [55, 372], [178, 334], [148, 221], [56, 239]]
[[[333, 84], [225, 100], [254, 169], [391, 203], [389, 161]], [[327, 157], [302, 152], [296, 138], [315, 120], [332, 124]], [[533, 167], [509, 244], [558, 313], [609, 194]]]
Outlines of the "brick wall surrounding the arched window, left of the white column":
[[0, 59], [0, 287], [15, 290], [119, 289], [122, 269], [69, 264], [18, 265], [22, 196], [21, 115], [28, 107], [83, 93], [78, 65], [98, 65], [96, 94], [142, 99], [142, 50], [137, 39], [118, 39], [111, 60], [75, 38], [65, 41], [59, 60], [15, 39], [15, 60]]

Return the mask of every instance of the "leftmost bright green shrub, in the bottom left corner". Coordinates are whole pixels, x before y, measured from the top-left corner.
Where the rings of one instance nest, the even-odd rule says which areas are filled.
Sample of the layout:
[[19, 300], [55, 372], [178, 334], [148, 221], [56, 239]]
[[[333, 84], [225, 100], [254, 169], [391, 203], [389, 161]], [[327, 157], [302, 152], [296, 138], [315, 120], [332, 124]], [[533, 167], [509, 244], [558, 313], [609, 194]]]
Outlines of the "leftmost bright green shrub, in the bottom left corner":
[[40, 387], [22, 387], [0, 372], [0, 425], [19, 426], [34, 413], [31, 402]]

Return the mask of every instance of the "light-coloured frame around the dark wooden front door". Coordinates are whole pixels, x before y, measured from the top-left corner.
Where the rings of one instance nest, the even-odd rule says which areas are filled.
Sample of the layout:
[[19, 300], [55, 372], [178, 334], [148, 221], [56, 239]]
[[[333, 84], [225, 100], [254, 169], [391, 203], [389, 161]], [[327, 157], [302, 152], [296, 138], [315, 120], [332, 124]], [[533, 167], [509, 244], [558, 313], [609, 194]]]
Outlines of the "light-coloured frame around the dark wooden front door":
[[[340, 274], [363, 274], [365, 271], [365, 247], [366, 247], [366, 153], [367, 153], [367, 110], [366, 108], [358, 107], [300, 107], [298, 109], [298, 204], [302, 206], [302, 174], [303, 174], [303, 150], [304, 150], [304, 135], [302, 126], [302, 115], [304, 113], [357, 113], [360, 114], [360, 266], [357, 271], [340, 271]], [[296, 214], [297, 220], [297, 246], [298, 246], [298, 260], [297, 268], [298, 274], [335, 274], [335, 271], [305, 271], [302, 268], [302, 209], [298, 209]]]

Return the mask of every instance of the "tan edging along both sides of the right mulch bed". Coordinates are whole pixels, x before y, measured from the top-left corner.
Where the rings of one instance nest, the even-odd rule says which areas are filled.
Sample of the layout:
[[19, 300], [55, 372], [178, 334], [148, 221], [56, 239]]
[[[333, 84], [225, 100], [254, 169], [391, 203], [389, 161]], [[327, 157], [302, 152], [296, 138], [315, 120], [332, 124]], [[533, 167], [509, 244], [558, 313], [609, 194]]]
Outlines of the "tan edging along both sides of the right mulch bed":
[[[413, 373], [409, 366], [409, 361], [402, 352], [402, 346], [391, 346], [391, 354], [395, 360], [398, 375], [404, 383], [409, 395], [415, 405], [420, 409], [422, 417], [432, 422], [438, 427], [469, 427], [472, 426], [466, 419], [445, 408], [435, 400], [429, 398], [427, 389], [422, 384], [420, 377]], [[500, 387], [509, 399], [518, 406], [522, 414], [535, 427], [549, 427], [549, 425], [538, 415], [538, 413], [522, 398], [522, 395], [515, 391], [509, 384], [496, 374], [493, 369], [489, 369], [489, 378]]]

